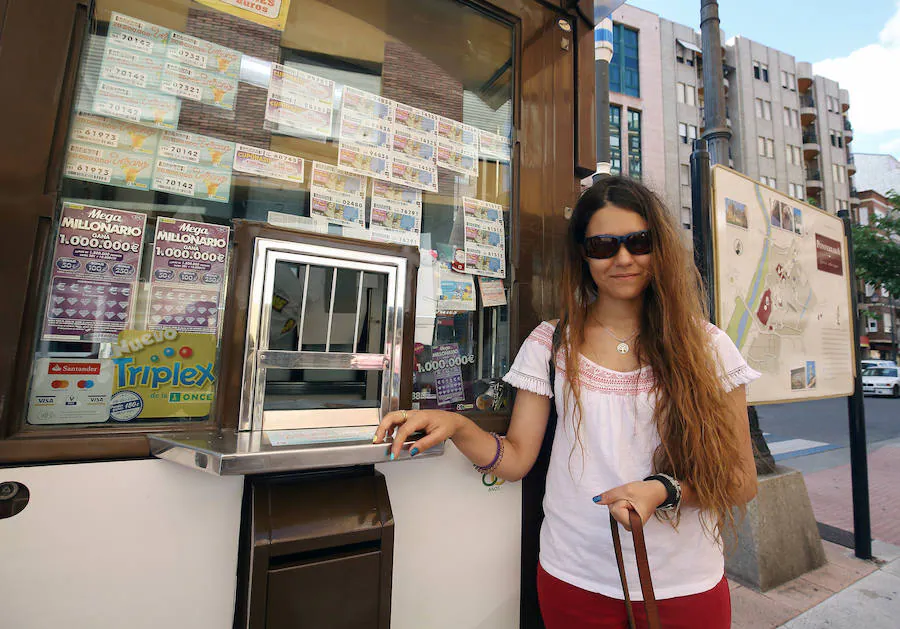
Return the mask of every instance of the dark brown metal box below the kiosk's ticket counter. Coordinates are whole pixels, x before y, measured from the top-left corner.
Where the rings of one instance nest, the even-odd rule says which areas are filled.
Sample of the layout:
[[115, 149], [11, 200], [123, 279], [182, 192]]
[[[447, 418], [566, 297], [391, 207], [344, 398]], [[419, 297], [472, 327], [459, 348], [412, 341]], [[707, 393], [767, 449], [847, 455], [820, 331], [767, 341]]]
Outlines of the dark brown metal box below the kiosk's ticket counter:
[[371, 468], [247, 481], [235, 628], [390, 627], [394, 520]]

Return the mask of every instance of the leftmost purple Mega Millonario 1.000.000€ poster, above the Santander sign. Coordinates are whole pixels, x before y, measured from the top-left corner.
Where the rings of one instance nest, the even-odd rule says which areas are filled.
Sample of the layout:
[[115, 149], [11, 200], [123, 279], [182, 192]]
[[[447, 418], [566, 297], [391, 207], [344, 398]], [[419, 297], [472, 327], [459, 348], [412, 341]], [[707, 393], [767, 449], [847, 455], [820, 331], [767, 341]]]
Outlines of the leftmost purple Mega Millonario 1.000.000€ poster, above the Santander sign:
[[114, 341], [129, 327], [147, 217], [64, 203], [43, 340]]

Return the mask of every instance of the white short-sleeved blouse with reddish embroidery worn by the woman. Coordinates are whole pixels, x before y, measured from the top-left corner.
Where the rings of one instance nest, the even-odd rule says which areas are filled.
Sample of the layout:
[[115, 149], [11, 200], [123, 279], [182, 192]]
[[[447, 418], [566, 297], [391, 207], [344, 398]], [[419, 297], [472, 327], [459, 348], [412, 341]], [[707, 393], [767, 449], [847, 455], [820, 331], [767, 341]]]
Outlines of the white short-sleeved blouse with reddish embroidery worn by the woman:
[[[525, 340], [504, 380], [539, 395], [553, 397], [550, 388], [550, 352], [554, 326], [541, 323]], [[760, 376], [747, 365], [727, 334], [709, 326], [710, 342], [718, 357], [719, 377], [725, 388], [746, 384]], [[580, 445], [572, 425], [571, 403], [556, 397], [559, 421], [553, 439], [540, 561], [543, 568], [567, 583], [604, 596], [623, 599], [622, 586], [609, 530], [606, 507], [593, 497], [652, 473], [653, 452], [659, 435], [653, 424], [653, 373], [649, 367], [631, 372], [606, 369], [584, 356], [581, 363]], [[556, 359], [553, 390], [565, 386], [565, 359]], [[657, 598], [705, 592], [724, 574], [721, 541], [704, 532], [698, 509], [683, 507], [676, 531], [650, 518], [644, 527], [647, 554]], [[621, 536], [628, 589], [632, 600], [642, 600], [631, 535]]]

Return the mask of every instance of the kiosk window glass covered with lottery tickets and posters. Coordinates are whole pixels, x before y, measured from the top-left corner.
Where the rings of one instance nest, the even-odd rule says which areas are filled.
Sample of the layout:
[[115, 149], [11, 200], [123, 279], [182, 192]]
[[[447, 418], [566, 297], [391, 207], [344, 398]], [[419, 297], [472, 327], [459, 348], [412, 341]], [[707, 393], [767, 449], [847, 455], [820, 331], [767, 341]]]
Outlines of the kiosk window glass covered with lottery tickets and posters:
[[[24, 428], [208, 421], [237, 218], [420, 247], [414, 404], [506, 412], [511, 24], [455, 0], [241, 4], [93, 3]], [[278, 277], [273, 347], [378, 344], [379, 278]], [[376, 380], [266, 386], [377, 407]]]

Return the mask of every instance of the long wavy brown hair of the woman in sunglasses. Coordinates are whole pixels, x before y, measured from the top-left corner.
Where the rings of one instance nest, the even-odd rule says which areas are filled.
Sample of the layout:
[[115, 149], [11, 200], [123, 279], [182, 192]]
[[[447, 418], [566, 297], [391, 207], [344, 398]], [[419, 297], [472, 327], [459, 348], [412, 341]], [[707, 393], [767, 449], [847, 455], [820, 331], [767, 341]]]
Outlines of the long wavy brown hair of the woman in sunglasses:
[[[656, 472], [686, 481], [716, 530], [733, 529], [732, 505], [741, 481], [737, 435], [727, 418], [726, 394], [716, 369], [706, 292], [674, 218], [645, 186], [626, 177], [601, 177], [575, 204], [566, 239], [561, 287], [561, 349], [566, 360], [568, 394], [574, 398], [574, 431], [579, 445], [582, 408], [579, 360], [591, 304], [598, 298], [584, 257], [584, 239], [595, 212], [607, 204], [639, 214], [650, 229], [651, 280], [643, 295], [638, 360], [652, 369], [656, 395], [654, 422], [660, 446], [653, 455]], [[571, 357], [571, 359], [568, 359]], [[677, 522], [676, 522], [677, 524]]]

